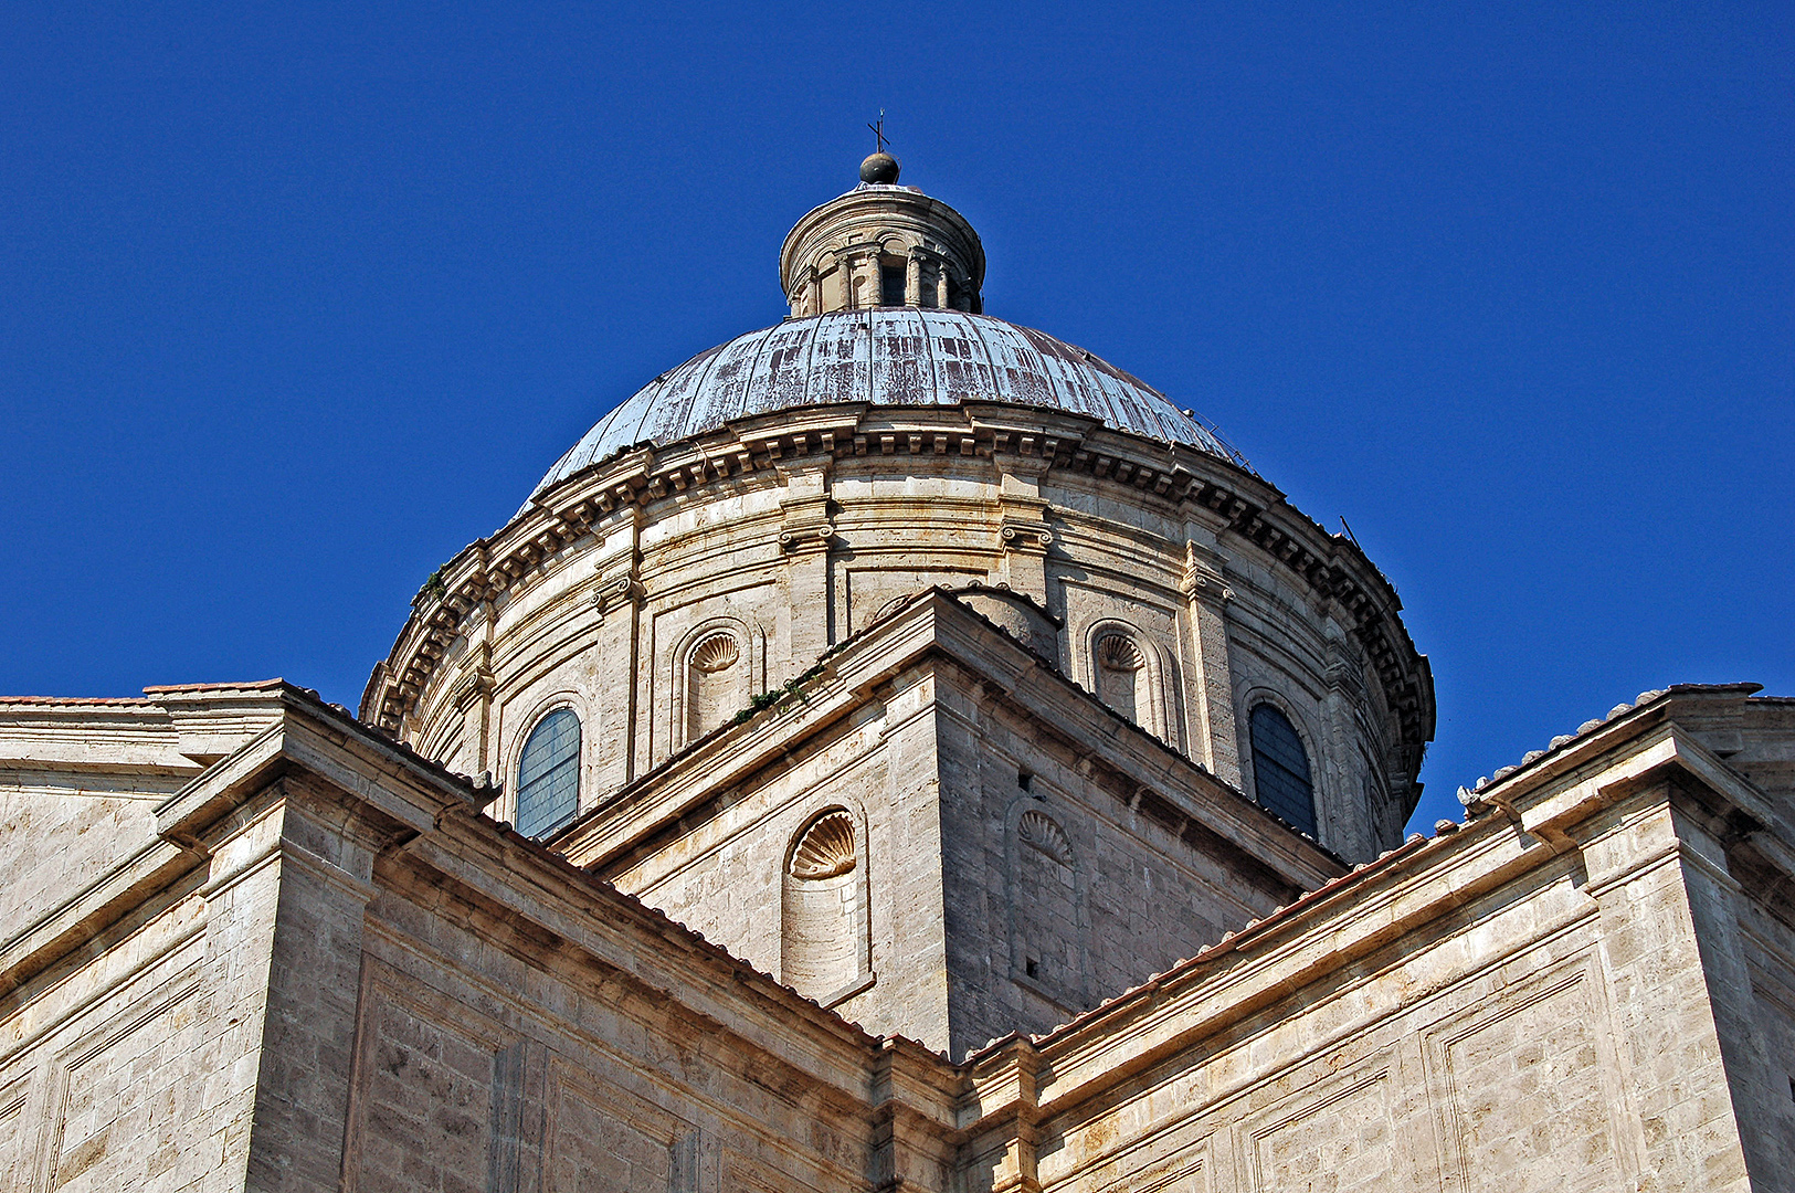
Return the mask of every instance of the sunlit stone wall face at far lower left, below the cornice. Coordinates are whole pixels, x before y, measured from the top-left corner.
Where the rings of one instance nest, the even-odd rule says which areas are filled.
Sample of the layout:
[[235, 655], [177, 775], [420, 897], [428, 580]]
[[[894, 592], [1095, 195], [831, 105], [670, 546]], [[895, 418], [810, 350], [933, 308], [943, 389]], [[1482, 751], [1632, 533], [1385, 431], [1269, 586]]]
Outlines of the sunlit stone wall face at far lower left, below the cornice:
[[[138, 843], [138, 856], [160, 845]], [[280, 890], [267, 805], [214, 847], [197, 870], [142, 870], [185, 874], [127, 897], [117, 922], [0, 1003], [4, 1188], [242, 1188]], [[127, 874], [65, 895], [79, 908]]]

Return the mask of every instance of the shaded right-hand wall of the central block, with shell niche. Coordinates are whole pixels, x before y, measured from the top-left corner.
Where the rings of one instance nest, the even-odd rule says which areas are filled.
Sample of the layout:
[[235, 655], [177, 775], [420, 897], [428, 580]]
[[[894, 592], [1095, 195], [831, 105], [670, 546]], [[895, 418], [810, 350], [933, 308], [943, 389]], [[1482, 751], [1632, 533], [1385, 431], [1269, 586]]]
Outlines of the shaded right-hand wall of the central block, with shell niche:
[[1154, 818], [975, 675], [942, 675], [953, 1057], [1066, 1023], [1296, 895], [1237, 847]]

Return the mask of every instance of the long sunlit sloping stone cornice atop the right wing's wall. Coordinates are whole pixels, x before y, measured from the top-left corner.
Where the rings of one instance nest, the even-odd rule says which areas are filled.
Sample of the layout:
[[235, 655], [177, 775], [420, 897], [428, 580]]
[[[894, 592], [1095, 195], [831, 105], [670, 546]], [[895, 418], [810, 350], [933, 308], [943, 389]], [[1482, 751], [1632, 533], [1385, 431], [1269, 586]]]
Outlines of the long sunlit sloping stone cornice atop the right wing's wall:
[[[1405, 933], [1438, 924], [1520, 875], [1553, 865], [1580, 849], [1578, 825], [1648, 793], [1650, 784], [1666, 775], [1682, 779], [1677, 795], [1657, 788], [1660, 795], [1648, 798], [1694, 795], [1711, 814], [1738, 818], [1736, 827], [1748, 831], [1770, 811], [1763, 793], [1678, 725], [1675, 714], [1675, 707], [1660, 707], [1655, 716], [1621, 718], [1610, 732], [1590, 734], [1578, 750], [1567, 752], [1558, 766], [1540, 768], [1528, 782], [1493, 793], [1504, 798], [1499, 809], [1504, 814], [1486, 814], [1432, 840], [1409, 838], [1402, 849], [1230, 933], [1195, 958], [1054, 1032], [1021, 1041], [1027, 1049], [1014, 1039], [994, 1041], [964, 1062], [973, 1089], [962, 1107], [962, 1128], [1012, 1116], [1018, 1089], [1029, 1084], [1036, 1085], [1036, 1098], [1027, 1105], [1032, 1116], [1102, 1098], [1106, 1089], [1327, 974], [1362, 963]], [[1673, 849], [1666, 859], [1700, 861], [1687, 847]], [[1411, 990], [1386, 1010], [1393, 1014], [1416, 996]], [[1018, 1075], [1018, 1067], [1029, 1073]]]

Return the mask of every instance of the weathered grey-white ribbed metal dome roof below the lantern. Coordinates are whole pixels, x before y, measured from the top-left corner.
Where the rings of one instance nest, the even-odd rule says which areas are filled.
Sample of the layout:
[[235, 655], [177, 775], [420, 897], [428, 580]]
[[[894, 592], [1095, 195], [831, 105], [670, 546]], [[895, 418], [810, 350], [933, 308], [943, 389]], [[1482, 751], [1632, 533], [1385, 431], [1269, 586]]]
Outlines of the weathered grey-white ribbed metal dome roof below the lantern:
[[535, 493], [637, 443], [831, 402], [1016, 402], [1235, 459], [1158, 389], [1082, 348], [982, 314], [876, 307], [786, 319], [700, 352], [598, 420]]

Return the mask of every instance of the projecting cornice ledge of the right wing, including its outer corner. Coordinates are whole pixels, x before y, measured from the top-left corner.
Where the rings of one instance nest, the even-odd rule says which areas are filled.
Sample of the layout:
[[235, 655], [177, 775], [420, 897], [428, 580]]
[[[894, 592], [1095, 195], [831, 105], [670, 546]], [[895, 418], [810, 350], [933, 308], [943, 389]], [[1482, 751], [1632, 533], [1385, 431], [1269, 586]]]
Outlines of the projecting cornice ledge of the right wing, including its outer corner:
[[[1734, 884], [1716, 843], [1743, 847], [1759, 865], [1777, 866], [1782, 881], [1795, 881], [1795, 849], [1777, 827], [1773, 800], [1712, 748], [1723, 741], [1714, 734], [1714, 714], [1732, 698], [1743, 700], [1711, 689], [1617, 716], [1542, 764], [1479, 791], [1484, 809], [1472, 823], [1432, 840], [1411, 838], [1054, 1032], [993, 1042], [966, 1062], [973, 1087], [960, 1127], [1002, 1134], [1009, 1119], [1045, 1119], [1100, 1100], [1158, 1064], [1201, 1051], [1208, 1039], [1242, 1030], [1301, 990], [1332, 988], [1353, 965], [1562, 865], [1556, 859], [1567, 852], [1581, 850], [1589, 863], [1585, 913], [1594, 911], [1601, 890], [1655, 865], [1682, 861]], [[1662, 818], [1666, 807], [1669, 820]], [[1648, 822], [1668, 829], [1630, 829]], [[1596, 841], [1619, 845], [1603, 850], [1599, 866]], [[1414, 949], [1431, 947], [1431, 940], [1416, 938]], [[1380, 965], [1389, 963], [1384, 956]], [[1375, 997], [1357, 1008], [1355, 1030], [1431, 994], [1402, 983], [1361, 990]], [[1224, 1100], [1231, 1091], [1210, 1093]]]

